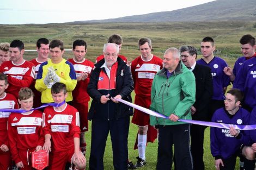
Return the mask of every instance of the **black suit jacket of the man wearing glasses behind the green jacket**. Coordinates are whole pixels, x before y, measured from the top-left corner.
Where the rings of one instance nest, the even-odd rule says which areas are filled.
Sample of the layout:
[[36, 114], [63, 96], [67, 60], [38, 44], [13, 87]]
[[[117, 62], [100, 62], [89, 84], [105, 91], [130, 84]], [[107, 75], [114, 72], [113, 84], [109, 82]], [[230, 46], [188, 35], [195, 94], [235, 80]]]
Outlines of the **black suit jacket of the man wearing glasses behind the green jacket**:
[[196, 108], [196, 113], [192, 115], [192, 119], [210, 121], [208, 108], [214, 92], [211, 68], [196, 64], [192, 72], [196, 78], [196, 102], [193, 104]]

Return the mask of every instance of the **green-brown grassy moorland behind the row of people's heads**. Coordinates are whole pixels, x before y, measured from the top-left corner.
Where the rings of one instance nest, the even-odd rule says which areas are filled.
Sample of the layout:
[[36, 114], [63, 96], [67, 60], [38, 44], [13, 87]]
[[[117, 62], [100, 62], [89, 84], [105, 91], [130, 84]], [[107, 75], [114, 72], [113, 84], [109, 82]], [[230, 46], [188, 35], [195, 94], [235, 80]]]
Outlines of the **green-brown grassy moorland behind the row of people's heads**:
[[[181, 45], [200, 47], [205, 36], [212, 36], [221, 56], [240, 55], [239, 39], [244, 34], [255, 36], [255, 22], [162, 22], [162, 23], [65, 23], [65, 24], [22, 24], [1, 25], [1, 42], [20, 39], [25, 49], [35, 49], [40, 37], [61, 39], [65, 49], [71, 49], [72, 42], [84, 39], [88, 43], [87, 58], [95, 60], [102, 53], [103, 43], [110, 35], [123, 36], [121, 53], [130, 60], [139, 55], [137, 42], [141, 37], [149, 37], [153, 42], [154, 54], [162, 56], [169, 47]], [[34, 57], [34, 56], [33, 56]]]

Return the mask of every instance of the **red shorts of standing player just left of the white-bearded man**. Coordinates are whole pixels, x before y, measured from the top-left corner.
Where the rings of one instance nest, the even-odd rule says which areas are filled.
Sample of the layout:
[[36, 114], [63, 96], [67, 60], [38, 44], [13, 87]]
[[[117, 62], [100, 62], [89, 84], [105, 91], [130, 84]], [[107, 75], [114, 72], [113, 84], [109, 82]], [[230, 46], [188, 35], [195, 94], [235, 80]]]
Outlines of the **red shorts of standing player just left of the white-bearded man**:
[[88, 102], [72, 102], [72, 106], [74, 106], [79, 111], [81, 132], [88, 131]]

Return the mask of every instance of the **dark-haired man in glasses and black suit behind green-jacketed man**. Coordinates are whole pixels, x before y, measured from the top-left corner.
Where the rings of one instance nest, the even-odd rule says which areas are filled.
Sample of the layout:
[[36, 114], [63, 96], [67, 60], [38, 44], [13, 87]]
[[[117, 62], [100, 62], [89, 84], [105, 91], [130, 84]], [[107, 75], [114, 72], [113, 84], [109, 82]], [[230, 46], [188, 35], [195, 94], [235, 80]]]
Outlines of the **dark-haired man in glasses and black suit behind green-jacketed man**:
[[[209, 103], [213, 86], [211, 68], [196, 63], [197, 49], [192, 46], [181, 46], [180, 57], [182, 62], [196, 77], [196, 102], [191, 106], [193, 120], [210, 121]], [[191, 154], [194, 170], [204, 170], [204, 129], [202, 125], [191, 125]]]

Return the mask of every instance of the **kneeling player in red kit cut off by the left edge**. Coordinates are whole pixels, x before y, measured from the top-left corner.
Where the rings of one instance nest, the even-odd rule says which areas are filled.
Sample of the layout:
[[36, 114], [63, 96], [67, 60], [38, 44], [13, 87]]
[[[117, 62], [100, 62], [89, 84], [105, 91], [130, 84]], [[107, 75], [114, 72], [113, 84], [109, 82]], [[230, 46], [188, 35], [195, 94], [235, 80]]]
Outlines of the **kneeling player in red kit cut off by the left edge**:
[[[5, 93], [8, 87], [7, 75], [0, 73], [0, 109], [19, 109], [17, 99]], [[11, 163], [7, 122], [10, 112], [0, 111], [0, 169], [8, 169]]]

